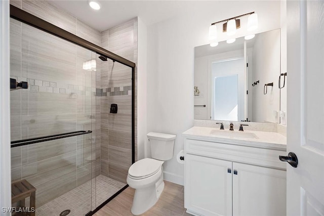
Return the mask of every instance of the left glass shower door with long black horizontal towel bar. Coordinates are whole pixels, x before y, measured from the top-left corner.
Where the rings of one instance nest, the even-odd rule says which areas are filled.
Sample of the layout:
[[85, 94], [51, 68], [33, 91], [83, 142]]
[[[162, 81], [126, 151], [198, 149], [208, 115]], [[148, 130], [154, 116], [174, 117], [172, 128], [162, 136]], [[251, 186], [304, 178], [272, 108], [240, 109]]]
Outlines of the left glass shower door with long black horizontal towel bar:
[[[11, 78], [28, 82], [11, 91], [12, 141], [96, 132], [96, 54], [14, 19], [10, 37]], [[36, 188], [36, 215], [95, 208], [96, 142], [89, 133], [11, 149], [12, 181]]]

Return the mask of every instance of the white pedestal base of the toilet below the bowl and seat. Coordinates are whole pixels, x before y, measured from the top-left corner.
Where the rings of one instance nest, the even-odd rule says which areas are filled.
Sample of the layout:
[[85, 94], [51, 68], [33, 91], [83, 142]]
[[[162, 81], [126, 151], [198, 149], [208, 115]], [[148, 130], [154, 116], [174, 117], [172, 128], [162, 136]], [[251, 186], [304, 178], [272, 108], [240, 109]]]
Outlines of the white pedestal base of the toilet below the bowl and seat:
[[142, 213], [145, 213], [155, 205], [164, 189], [163, 179], [164, 175], [162, 170], [162, 174], [157, 183], [146, 188], [135, 190], [133, 205], [131, 209], [132, 214], [140, 215]]

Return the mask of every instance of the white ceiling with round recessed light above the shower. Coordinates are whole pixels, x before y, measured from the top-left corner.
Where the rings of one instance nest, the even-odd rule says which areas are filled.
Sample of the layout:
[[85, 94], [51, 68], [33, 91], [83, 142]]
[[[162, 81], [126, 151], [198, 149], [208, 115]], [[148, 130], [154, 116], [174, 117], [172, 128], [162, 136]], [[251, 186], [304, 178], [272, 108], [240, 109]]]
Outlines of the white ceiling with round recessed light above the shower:
[[104, 31], [134, 17], [140, 17], [148, 26], [180, 15], [182, 11], [195, 10], [203, 1], [97, 1], [101, 9], [90, 8], [87, 0], [51, 0], [51, 4], [70, 13], [91, 27]]

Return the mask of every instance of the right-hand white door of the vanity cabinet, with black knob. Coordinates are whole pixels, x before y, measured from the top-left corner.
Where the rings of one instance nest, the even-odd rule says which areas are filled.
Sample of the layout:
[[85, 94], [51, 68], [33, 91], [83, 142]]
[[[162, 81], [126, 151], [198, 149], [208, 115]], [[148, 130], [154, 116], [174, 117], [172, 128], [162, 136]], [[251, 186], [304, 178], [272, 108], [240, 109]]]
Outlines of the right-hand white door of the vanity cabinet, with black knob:
[[233, 215], [286, 215], [286, 171], [233, 162]]

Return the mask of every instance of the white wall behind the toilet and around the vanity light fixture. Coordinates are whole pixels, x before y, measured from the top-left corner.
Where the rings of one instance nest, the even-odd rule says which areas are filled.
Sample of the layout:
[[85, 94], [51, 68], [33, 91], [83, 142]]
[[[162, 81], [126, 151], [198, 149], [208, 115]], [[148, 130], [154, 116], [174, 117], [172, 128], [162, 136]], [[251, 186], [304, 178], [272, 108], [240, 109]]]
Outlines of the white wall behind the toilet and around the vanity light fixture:
[[[255, 11], [256, 33], [280, 28], [279, 1], [197, 1], [195, 8], [194, 14], [183, 13], [147, 29], [147, 132], [177, 135], [174, 155], [183, 149], [181, 134], [193, 125], [194, 47], [209, 43], [210, 24]], [[246, 21], [241, 19], [236, 37], [247, 34]], [[225, 40], [221, 25], [218, 29], [219, 40]], [[164, 167], [166, 180], [183, 184], [184, 167], [175, 157]]]

